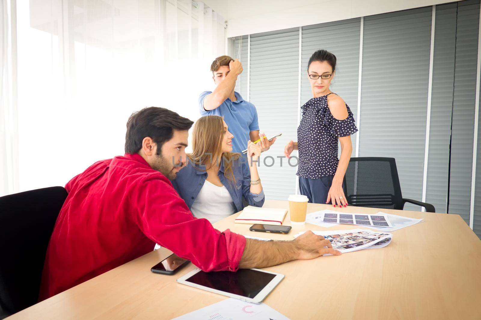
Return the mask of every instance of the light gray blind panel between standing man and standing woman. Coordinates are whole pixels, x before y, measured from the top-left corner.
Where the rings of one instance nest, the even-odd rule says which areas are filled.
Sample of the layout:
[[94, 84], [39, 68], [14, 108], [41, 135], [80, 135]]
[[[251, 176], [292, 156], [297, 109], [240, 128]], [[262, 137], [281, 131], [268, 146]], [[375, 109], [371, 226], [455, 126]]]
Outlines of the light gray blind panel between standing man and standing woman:
[[[299, 28], [251, 35], [250, 99], [257, 108], [260, 132], [282, 136], [261, 155], [259, 175], [267, 199], [286, 200], [295, 192], [297, 167], [276, 158], [295, 139], [299, 86]], [[266, 158], [271, 156], [273, 160]], [[264, 160], [266, 165], [264, 165]], [[295, 165], [296, 161], [291, 160]]]

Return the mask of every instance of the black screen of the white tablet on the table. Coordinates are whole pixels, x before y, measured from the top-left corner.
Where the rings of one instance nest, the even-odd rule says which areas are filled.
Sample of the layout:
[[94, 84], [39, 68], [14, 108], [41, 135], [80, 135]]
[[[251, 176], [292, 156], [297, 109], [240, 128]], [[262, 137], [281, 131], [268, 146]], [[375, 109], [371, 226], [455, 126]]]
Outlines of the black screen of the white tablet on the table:
[[275, 277], [276, 275], [272, 273], [252, 269], [239, 269], [237, 272], [199, 271], [186, 281], [233, 295], [253, 298]]

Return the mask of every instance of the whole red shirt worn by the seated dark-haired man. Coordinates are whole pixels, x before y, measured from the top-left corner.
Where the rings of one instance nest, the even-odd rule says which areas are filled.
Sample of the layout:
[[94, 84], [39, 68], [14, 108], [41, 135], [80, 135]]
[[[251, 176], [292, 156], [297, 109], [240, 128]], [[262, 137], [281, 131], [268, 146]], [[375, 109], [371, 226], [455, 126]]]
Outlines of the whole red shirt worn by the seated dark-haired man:
[[239, 268], [245, 238], [194, 218], [170, 181], [139, 154], [99, 161], [65, 189], [40, 300], [151, 252], [155, 243], [204, 271]]

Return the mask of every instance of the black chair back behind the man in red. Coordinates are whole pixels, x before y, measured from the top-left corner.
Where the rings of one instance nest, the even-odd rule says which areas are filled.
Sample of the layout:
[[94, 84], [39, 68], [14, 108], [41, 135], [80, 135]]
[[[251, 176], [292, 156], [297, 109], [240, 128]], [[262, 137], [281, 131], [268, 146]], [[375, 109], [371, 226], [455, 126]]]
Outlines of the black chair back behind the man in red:
[[37, 303], [47, 246], [66, 197], [63, 187], [0, 197], [0, 319]]

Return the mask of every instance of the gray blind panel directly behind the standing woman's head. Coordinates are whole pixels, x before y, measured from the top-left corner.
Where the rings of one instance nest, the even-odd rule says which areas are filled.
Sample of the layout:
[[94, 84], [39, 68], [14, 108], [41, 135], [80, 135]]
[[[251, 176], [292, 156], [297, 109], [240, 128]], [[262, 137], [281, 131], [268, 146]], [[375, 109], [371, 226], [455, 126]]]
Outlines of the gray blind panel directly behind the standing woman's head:
[[[301, 105], [312, 98], [311, 85], [307, 78], [307, 63], [319, 49], [326, 49], [337, 58], [335, 77], [331, 91], [340, 95], [357, 119], [357, 89], [359, 80], [359, 42], [361, 18], [308, 25], [302, 28]], [[352, 135], [355, 155], [356, 137]]]

